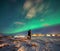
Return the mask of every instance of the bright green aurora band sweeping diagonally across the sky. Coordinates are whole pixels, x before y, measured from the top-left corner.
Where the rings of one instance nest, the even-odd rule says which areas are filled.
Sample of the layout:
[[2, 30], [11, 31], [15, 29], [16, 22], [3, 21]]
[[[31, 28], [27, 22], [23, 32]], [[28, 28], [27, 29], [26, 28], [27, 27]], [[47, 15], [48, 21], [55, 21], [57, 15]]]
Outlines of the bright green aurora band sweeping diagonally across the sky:
[[17, 33], [17, 32], [22, 32], [26, 31], [29, 29], [36, 29], [36, 28], [42, 28], [45, 27], [45, 24], [48, 26], [53, 26], [56, 24], [60, 24], [60, 14], [55, 13], [49, 16], [44, 17], [43, 22], [41, 22], [39, 19], [32, 19], [31, 21], [27, 21], [25, 25], [11, 25], [11, 28], [8, 28], [4, 33]]

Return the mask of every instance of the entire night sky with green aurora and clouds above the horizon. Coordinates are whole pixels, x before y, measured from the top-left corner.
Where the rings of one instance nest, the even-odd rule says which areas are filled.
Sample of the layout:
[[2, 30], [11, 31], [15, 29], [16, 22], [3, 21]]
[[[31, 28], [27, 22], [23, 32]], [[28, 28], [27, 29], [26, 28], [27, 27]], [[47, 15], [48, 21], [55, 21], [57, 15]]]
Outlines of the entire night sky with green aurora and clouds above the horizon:
[[60, 32], [60, 0], [0, 0], [0, 33], [14, 34], [30, 29]]

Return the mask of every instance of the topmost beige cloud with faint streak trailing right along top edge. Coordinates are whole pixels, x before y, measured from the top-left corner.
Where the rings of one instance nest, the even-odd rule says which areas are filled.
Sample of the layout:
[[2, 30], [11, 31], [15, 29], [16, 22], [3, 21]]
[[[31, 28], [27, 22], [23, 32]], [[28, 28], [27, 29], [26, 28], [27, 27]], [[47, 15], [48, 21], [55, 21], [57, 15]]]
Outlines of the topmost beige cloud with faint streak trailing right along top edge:
[[43, 0], [26, 0], [25, 3], [24, 3], [23, 8], [25, 10], [27, 10], [27, 9], [29, 9], [31, 7], [34, 7], [34, 6], [36, 6], [36, 5], [38, 5], [42, 2], [43, 2]]

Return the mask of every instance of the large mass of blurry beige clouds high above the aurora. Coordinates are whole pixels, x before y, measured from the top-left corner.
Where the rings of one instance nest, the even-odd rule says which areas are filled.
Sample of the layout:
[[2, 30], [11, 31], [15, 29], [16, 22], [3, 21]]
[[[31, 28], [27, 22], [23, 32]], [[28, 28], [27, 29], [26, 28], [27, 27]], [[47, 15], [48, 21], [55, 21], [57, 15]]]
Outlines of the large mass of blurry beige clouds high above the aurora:
[[24, 11], [26, 12], [25, 18], [34, 18], [37, 15], [36, 13], [42, 15], [46, 14], [49, 8], [49, 3], [44, 3], [43, 1], [44, 0], [26, 0], [23, 6]]

